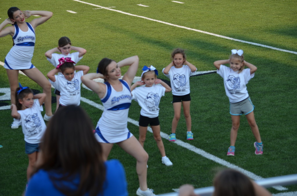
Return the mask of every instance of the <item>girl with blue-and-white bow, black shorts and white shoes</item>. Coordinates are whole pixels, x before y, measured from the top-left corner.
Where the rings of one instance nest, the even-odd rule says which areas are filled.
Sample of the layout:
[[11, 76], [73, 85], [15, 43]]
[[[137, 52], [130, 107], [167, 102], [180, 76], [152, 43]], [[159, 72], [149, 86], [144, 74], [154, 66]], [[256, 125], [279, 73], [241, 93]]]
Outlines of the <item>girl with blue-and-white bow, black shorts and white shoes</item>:
[[[172, 162], [165, 154], [164, 144], [160, 136], [159, 122], [159, 103], [160, 98], [165, 92], [170, 92], [171, 88], [164, 81], [157, 79], [158, 71], [154, 66], [144, 66], [141, 74], [141, 81], [135, 82], [131, 86], [132, 98], [138, 102], [141, 107], [139, 118], [139, 139], [138, 141], [144, 146], [146, 140], [146, 131], [150, 124], [154, 134], [154, 139], [162, 155], [162, 163], [166, 166], [172, 166]], [[144, 85], [145, 86], [142, 86]], [[161, 85], [155, 85], [161, 84]], [[140, 86], [135, 88], [136, 86]]]

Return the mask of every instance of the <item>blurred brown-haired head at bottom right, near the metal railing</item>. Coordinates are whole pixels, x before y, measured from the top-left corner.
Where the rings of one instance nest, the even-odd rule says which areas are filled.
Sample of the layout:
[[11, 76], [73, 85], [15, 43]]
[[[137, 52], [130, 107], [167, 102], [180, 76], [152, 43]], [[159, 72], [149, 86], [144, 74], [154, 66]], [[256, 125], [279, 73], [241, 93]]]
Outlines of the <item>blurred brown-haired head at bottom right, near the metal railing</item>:
[[256, 196], [252, 181], [239, 171], [225, 169], [214, 178], [213, 196]]

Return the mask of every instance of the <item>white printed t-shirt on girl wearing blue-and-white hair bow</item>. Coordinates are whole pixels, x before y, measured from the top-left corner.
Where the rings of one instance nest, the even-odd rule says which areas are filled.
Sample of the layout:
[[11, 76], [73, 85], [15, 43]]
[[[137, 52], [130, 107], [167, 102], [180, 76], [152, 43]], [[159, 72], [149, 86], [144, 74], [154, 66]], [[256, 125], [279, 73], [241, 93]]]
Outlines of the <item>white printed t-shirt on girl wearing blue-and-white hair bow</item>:
[[141, 107], [140, 115], [149, 118], [158, 117], [160, 98], [165, 95], [165, 90], [165, 87], [162, 85], [135, 88], [131, 93], [132, 98]]

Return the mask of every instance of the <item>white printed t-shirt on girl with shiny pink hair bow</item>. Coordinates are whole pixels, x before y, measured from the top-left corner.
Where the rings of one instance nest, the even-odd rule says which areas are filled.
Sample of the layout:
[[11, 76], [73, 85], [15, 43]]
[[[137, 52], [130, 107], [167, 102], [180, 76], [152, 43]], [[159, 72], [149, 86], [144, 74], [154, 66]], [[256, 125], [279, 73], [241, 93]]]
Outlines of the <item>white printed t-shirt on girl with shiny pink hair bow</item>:
[[61, 105], [80, 105], [81, 76], [83, 76], [83, 71], [76, 72], [71, 81], [68, 81], [64, 75], [55, 75], [55, 82], [48, 79], [53, 87], [60, 91]]

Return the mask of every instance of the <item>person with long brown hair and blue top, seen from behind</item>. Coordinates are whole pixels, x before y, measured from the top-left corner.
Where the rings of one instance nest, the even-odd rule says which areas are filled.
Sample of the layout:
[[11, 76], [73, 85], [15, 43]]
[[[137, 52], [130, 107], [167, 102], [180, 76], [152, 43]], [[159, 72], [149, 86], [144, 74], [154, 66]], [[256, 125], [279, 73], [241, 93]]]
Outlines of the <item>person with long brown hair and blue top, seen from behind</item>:
[[62, 107], [48, 123], [26, 195], [128, 195], [123, 166], [103, 160], [91, 119], [81, 107]]

